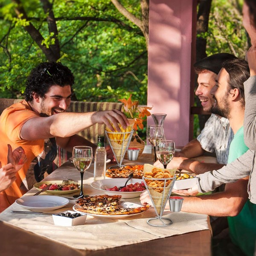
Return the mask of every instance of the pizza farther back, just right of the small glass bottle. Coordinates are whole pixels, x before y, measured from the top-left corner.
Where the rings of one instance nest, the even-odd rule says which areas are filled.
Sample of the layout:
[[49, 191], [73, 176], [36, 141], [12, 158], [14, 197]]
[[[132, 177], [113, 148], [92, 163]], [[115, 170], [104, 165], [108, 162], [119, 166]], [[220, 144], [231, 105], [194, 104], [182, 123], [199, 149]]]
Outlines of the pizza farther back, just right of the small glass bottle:
[[106, 170], [106, 176], [110, 178], [127, 178], [131, 173], [133, 173], [135, 179], [142, 179], [143, 168], [143, 165], [135, 165], [122, 166], [118, 169], [108, 169]]

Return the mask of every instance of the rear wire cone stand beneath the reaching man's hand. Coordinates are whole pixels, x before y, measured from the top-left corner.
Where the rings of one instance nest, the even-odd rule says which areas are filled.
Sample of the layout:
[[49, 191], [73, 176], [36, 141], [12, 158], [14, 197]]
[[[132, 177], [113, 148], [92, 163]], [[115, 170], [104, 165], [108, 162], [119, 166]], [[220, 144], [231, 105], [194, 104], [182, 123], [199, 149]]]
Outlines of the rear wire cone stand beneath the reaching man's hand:
[[111, 146], [111, 149], [113, 151], [113, 154], [117, 163], [116, 166], [111, 166], [111, 168], [114, 168], [114, 167], [120, 168], [122, 166], [122, 160], [124, 159], [125, 152], [130, 144], [132, 134], [133, 134], [133, 131], [129, 131], [129, 132], [105, 131], [105, 135], [108, 139], [108, 143]]

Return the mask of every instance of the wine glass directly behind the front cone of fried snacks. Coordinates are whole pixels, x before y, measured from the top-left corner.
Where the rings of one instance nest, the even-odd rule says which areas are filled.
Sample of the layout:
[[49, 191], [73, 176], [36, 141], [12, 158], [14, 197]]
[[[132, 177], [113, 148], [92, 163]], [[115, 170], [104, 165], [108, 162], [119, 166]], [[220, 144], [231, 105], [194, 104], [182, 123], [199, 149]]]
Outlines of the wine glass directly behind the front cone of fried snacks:
[[163, 164], [164, 169], [166, 169], [167, 164], [172, 161], [174, 151], [175, 143], [173, 140], [162, 140], [157, 142], [157, 159]]

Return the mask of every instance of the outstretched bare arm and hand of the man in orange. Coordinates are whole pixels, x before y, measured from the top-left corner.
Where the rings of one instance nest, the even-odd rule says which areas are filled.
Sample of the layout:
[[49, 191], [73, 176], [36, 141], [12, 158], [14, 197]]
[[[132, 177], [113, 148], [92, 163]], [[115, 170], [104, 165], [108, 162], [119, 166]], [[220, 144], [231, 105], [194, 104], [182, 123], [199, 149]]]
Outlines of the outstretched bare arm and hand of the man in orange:
[[58, 113], [49, 117], [33, 117], [27, 120], [21, 128], [20, 137], [23, 140], [71, 137], [95, 123], [105, 124], [112, 131], [113, 127], [117, 131], [120, 130], [118, 123], [124, 128], [129, 124], [125, 115], [119, 110]]

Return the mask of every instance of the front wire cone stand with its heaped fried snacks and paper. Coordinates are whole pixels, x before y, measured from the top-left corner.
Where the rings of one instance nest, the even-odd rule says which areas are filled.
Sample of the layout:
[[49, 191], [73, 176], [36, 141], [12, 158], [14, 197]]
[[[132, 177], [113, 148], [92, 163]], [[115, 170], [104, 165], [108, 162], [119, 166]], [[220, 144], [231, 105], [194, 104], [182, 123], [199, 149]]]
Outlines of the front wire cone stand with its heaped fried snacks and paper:
[[[165, 227], [172, 224], [171, 219], [162, 216], [176, 180], [175, 172], [176, 169], [157, 168], [150, 164], [144, 165], [142, 178], [157, 214], [156, 217], [147, 221], [151, 226]], [[153, 220], [159, 220], [160, 224], [152, 224]]]

